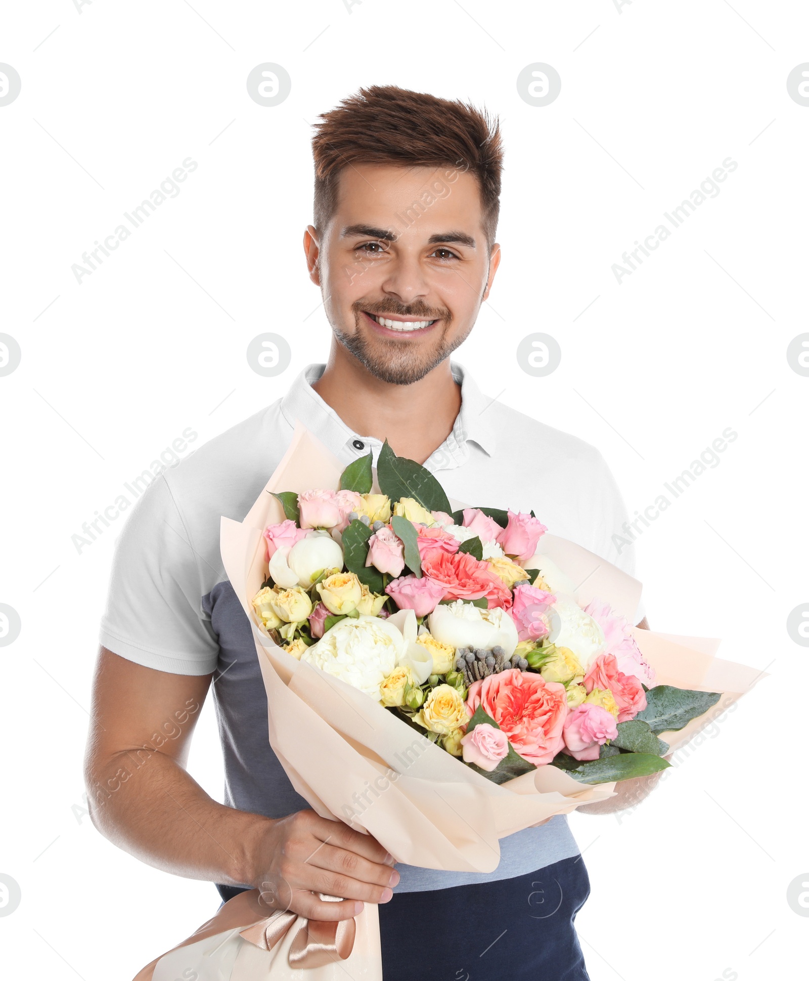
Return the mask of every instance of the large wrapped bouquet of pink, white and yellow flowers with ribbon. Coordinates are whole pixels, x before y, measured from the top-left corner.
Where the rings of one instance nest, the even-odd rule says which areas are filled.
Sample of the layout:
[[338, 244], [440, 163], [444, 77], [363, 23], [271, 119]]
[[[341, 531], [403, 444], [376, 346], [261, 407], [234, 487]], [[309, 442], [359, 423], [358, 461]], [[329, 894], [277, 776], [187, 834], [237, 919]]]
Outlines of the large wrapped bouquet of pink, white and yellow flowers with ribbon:
[[[500, 838], [666, 768], [761, 677], [633, 628], [630, 576], [532, 513], [448, 500], [386, 444], [375, 475], [297, 429], [221, 545], [292, 785], [412, 865], [493, 871]], [[300, 968], [379, 981], [377, 907], [338, 926], [242, 893], [136, 981]]]

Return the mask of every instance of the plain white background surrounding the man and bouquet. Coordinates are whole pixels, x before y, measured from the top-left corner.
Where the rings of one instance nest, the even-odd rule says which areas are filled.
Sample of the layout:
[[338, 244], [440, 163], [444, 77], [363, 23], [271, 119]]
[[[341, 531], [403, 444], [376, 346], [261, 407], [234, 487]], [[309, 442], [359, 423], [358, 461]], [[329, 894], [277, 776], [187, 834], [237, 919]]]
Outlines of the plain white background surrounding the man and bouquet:
[[[0, 872], [22, 889], [0, 917], [5, 976], [128, 979], [217, 907], [212, 885], [118, 851], [83, 811], [121, 521], [80, 554], [72, 536], [183, 429], [199, 445], [325, 357], [301, 249], [310, 124], [390, 82], [501, 117], [503, 262], [458, 355], [481, 387], [596, 444], [631, 514], [726, 427], [738, 434], [644, 532], [638, 574], [654, 628], [722, 637], [724, 656], [769, 677], [634, 812], [573, 815], [590, 976], [800, 976], [809, 921], [786, 889], [809, 869], [809, 650], [785, 621], [809, 600], [809, 379], [786, 346], [809, 330], [809, 108], [786, 77], [807, 38], [796, 0], [4, 5], [0, 61], [23, 79], [0, 108], [0, 331], [23, 351], [0, 378], [0, 602], [23, 623], [0, 648]], [[292, 78], [274, 108], [247, 94], [262, 62]], [[516, 87], [533, 62], [562, 77], [542, 108]], [[188, 156], [199, 166], [177, 198], [77, 284], [81, 253]], [[721, 193], [618, 284], [612, 264], [729, 156]], [[278, 378], [245, 358], [265, 331], [291, 345]], [[547, 378], [516, 361], [534, 332], [562, 348]], [[221, 799], [210, 704], [190, 769]]]

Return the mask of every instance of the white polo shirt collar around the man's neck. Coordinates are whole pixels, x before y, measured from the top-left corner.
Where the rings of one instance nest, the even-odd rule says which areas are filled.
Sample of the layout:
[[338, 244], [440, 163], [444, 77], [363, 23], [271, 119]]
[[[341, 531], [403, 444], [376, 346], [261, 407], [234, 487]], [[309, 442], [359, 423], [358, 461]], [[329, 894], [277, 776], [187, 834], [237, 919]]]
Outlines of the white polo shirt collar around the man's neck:
[[[459, 466], [466, 462], [469, 456], [467, 442], [470, 441], [477, 443], [489, 456], [496, 447], [493, 417], [487, 414], [494, 399], [480, 391], [461, 365], [452, 363], [451, 368], [453, 378], [461, 386], [461, 411], [450, 435], [426, 461], [425, 465], [429, 468], [430, 463], [435, 469], [444, 469], [447, 463], [449, 466]], [[302, 423], [340, 460], [355, 459], [365, 446], [374, 450], [376, 459], [381, 447], [379, 439], [354, 433], [312, 387], [325, 370], [326, 365], [323, 364], [311, 364], [304, 368], [281, 399], [283, 417], [293, 428], [296, 422]], [[356, 442], [364, 444], [362, 449], [354, 445]]]

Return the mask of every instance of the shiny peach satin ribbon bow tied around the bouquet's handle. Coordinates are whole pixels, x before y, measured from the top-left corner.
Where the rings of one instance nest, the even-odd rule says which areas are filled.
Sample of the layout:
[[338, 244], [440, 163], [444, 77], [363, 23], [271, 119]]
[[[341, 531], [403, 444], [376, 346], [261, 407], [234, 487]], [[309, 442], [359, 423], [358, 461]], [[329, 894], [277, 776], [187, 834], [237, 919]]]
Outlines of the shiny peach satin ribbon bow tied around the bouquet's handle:
[[[322, 896], [321, 899], [331, 900], [333, 897]], [[228, 930], [237, 930], [240, 937], [263, 951], [272, 951], [293, 930], [288, 954], [289, 966], [312, 968], [345, 960], [354, 948], [357, 924], [353, 919], [328, 923], [308, 920], [293, 912], [271, 910], [263, 902], [259, 890], [251, 889], [228, 900], [212, 919], [203, 923], [194, 934], [177, 944], [173, 950], [195, 944], [206, 937], [227, 933]], [[151, 981], [159, 960], [160, 957], [147, 964], [134, 981]]]

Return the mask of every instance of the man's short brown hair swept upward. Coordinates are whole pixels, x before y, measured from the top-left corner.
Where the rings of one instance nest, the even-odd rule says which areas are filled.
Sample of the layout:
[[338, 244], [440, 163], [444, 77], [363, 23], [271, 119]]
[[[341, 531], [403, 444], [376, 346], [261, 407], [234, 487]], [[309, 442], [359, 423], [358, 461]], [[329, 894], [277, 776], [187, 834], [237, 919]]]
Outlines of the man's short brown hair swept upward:
[[337, 181], [357, 161], [398, 167], [448, 165], [480, 183], [483, 229], [494, 241], [500, 210], [503, 149], [496, 118], [464, 102], [396, 85], [349, 95], [315, 124], [315, 227], [323, 231], [337, 206]]

